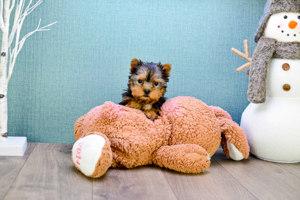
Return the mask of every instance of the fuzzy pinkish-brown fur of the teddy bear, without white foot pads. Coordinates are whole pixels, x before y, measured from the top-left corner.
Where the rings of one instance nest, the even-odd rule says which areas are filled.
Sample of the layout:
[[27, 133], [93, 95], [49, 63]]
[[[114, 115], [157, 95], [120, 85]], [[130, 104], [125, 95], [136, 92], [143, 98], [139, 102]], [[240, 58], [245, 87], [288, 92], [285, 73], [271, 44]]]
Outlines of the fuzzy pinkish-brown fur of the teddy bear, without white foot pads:
[[[208, 168], [221, 136], [244, 158], [249, 155], [244, 131], [221, 108], [209, 108], [192, 97], [176, 97], [167, 100], [159, 114], [153, 122], [141, 110], [106, 102], [79, 118], [74, 125], [76, 139], [99, 134], [107, 141], [91, 177], [106, 172], [110, 155], [111, 167], [156, 164], [178, 172], [199, 173]], [[229, 157], [227, 151], [224, 149]]]

